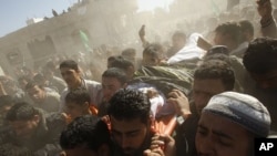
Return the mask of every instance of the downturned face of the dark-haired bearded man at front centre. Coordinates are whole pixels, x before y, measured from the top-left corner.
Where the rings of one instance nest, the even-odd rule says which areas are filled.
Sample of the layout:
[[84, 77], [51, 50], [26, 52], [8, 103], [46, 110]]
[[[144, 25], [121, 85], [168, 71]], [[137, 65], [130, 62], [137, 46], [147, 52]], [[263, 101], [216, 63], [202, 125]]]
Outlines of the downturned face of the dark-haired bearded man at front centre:
[[125, 155], [134, 155], [143, 146], [150, 125], [141, 118], [117, 121], [111, 116], [112, 136]]

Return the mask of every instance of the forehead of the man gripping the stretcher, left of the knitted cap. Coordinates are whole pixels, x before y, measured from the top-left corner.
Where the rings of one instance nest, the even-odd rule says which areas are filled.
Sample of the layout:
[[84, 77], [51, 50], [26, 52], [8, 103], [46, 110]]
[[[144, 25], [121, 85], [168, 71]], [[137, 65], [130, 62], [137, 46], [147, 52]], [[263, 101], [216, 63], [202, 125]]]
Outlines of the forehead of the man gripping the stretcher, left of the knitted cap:
[[193, 84], [194, 91], [218, 94], [225, 91], [223, 81], [220, 79], [195, 79]]

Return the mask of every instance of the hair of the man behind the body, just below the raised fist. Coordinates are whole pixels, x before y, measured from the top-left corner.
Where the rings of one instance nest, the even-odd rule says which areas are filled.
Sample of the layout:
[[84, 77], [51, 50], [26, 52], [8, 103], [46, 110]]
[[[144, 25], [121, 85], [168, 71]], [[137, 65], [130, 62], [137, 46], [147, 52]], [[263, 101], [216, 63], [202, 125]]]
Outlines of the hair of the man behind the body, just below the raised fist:
[[164, 58], [163, 45], [160, 43], [151, 43], [143, 50], [143, 55], [152, 55], [154, 58]]

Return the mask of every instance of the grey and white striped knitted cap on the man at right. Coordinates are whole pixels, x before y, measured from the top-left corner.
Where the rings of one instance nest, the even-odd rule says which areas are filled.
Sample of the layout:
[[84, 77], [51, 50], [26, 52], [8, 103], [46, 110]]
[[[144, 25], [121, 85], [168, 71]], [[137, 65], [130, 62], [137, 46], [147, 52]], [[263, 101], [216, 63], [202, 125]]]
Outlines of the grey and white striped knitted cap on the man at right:
[[227, 117], [259, 137], [266, 137], [270, 129], [270, 115], [267, 108], [255, 97], [224, 92], [214, 95], [203, 112]]

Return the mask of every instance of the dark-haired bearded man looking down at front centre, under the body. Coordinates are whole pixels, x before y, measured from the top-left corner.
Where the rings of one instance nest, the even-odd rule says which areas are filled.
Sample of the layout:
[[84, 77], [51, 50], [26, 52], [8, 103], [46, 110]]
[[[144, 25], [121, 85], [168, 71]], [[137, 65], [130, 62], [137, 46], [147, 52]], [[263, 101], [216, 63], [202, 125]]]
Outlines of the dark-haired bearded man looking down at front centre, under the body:
[[107, 114], [111, 119], [115, 156], [141, 156], [151, 145], [151, 103], [146, 94], [134, 90], [120, 90], [110, 100]]

